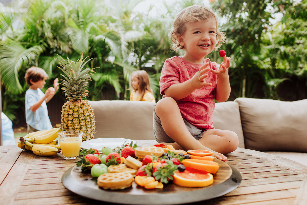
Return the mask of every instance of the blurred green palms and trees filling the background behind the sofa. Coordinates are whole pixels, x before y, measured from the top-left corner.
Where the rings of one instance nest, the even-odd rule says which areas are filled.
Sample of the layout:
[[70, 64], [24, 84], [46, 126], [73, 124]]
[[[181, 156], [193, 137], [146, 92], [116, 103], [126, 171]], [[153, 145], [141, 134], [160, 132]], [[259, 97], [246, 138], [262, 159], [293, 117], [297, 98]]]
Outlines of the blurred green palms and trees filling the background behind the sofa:
[[[61, 78], [57, 54], [97, 67], [88, 100], [129, 100], [130, 73], [150, 75], [156, 101], [163, 62], [174, 55], [167, 37], [173, 18], [193, 4], [211, 6], [227, 34], [231, 97], [295, 101], [307, 98], [307, 0], [18, 0], [0, 3], [2, 111], [25, 124], [26, 69], [48, 73], [43, 89]], [[208, 56], [222, 62], [218, 51]], [[64, 94], [48, 103], [60, 121]]]

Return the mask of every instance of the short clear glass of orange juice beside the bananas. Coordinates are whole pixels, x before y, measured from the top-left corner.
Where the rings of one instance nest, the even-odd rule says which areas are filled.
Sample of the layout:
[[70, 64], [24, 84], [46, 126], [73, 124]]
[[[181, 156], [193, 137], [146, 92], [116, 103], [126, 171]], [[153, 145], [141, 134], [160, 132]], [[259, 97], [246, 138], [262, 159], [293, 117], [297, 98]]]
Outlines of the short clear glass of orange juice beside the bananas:
[[79, 137], [67, 137], [60, 139], [60, 147], [64, 157], [79, 156], [81, 139]]

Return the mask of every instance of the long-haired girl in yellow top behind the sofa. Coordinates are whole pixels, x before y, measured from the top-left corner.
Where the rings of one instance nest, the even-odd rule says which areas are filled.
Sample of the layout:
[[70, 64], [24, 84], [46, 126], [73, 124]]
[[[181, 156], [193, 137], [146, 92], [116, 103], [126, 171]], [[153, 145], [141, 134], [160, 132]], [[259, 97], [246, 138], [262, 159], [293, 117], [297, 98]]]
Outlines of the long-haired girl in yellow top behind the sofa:
[[156, 102], [150, 88], [148, 73], [145, 70], [131, 73], [131, 86], [134, 90], [130, 93], [130, 101]]

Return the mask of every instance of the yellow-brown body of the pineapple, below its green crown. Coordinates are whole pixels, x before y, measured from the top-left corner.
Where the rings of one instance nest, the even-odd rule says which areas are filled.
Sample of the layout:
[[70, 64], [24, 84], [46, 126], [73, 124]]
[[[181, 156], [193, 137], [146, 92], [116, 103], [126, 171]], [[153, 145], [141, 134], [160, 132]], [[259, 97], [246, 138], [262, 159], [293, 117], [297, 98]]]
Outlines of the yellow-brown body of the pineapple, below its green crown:
[[95, 115], [87, 100], [67, 101], [61, 113], [62, 131], [83, 131], [82, 141], [94, 139]]

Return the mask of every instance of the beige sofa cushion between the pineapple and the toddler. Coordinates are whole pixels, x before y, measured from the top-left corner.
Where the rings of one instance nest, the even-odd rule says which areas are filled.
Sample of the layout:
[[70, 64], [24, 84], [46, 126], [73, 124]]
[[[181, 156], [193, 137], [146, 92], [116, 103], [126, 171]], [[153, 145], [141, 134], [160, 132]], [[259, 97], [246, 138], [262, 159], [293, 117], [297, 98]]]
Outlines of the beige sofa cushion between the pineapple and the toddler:
[[154, 140], [153, 106], [147, 101], [89, 101], [95, 114], [95, 138]]

